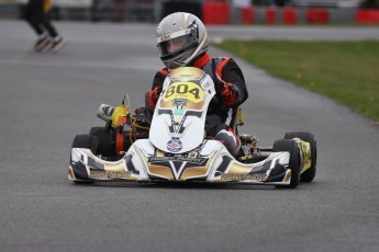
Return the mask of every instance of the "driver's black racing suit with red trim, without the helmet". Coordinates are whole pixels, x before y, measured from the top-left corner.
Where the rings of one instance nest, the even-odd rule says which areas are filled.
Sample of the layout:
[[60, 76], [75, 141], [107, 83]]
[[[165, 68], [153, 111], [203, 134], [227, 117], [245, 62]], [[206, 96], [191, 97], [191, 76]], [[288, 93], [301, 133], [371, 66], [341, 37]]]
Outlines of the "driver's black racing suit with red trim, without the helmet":
[[[208, 108], [207, 136], [222, 141], [230, 153], [235, 156], [237, 139], [231, 124], [233, 123], [235, 110], [248, 96], [245, 78], [233, 58], [211, 58], [205, 53], [198, 57], [191, 66], [210, 75], [216, 91]], [[148, 93], [148, 103], [152, 110], [156, 106], [167, 75], [169, 75], [167, 68], [155, 75], [152, 91]]]

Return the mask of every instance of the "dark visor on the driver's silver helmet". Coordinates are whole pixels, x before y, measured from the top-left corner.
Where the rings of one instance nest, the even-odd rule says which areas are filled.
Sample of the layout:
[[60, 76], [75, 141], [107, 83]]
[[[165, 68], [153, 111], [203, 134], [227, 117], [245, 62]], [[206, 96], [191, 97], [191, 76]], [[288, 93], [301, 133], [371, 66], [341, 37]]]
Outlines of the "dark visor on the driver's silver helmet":
[[198, 34], [194, 28], [187, 28], [160, 36], [157, 43], [163, 60], [174, 58], [199, 44]]

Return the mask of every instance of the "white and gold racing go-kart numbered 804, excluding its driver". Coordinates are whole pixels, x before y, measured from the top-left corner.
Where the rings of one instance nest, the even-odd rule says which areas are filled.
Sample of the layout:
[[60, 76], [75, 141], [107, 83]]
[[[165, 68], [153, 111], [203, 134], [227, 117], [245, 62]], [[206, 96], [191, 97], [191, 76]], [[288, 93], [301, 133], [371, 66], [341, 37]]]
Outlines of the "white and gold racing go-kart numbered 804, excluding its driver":
[[178, 68], [167, 76], [154, 113], [147, 106], [130, 112], [101, 105], [107, 122], [73, 142], [68, 179], [76, 183], [203, 182], [276, 185], [294, 188], [311, 182], [316, 171], [316, 140], [292, 131], [272, 147], [259, 147], [255, 136], [238, 134], [242, 111], [235, 110], [236, 157], [204, 131], [214, 83], [203, 70]]

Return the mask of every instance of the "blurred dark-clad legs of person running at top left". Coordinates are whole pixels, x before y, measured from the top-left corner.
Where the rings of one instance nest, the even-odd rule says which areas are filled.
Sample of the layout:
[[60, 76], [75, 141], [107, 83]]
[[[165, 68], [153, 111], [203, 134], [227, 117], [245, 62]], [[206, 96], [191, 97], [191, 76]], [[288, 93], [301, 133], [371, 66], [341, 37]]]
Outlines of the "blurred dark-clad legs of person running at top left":
[[29, 0], [26, 3], [24, 18], [38, 36], [34, 45], [35, 51], [49, 46], [49, 51], [56, 53], [66, 44], [51, 22], [51, 0]]

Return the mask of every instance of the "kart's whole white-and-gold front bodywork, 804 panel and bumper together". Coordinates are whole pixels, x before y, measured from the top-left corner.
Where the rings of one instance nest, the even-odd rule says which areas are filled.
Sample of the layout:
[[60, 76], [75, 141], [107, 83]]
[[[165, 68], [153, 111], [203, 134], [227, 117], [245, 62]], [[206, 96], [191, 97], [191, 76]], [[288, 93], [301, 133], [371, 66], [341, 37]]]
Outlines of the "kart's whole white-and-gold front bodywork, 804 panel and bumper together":
[[212, 79], [201, 69], [172, 71], [157, 102], [149, 139], [136, 140], [114, 162], [89, 149], [73, 148], [68, 177], [290, 184], [289, 152], [272, 152], [263, 161], [246, 164], [236, 161], [222, 142], [204, 139], [208, 105], [214, 94]]

